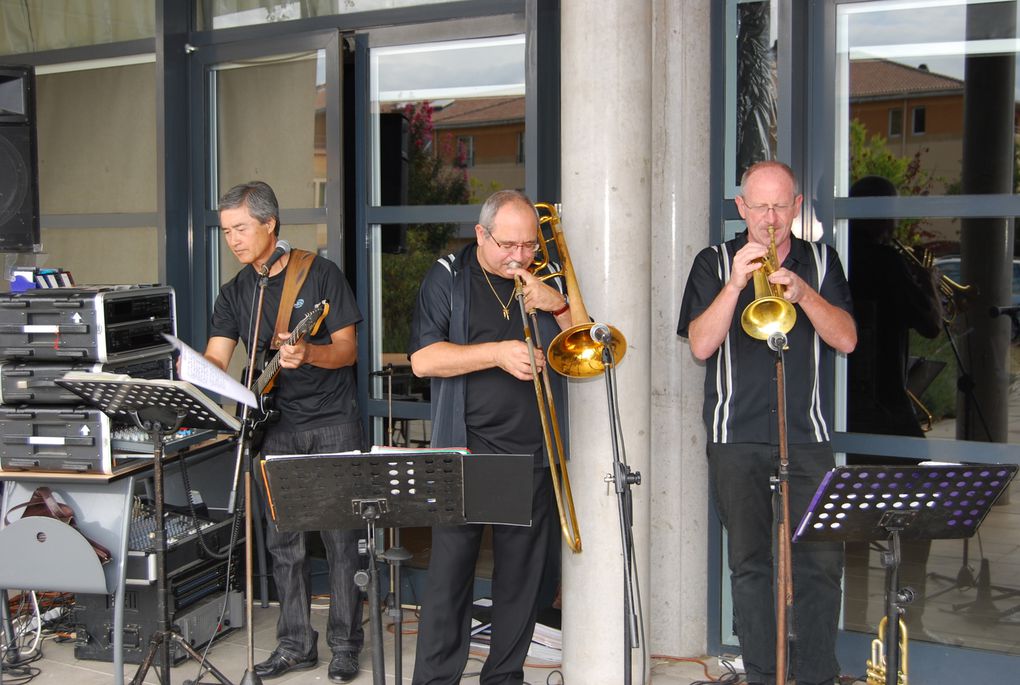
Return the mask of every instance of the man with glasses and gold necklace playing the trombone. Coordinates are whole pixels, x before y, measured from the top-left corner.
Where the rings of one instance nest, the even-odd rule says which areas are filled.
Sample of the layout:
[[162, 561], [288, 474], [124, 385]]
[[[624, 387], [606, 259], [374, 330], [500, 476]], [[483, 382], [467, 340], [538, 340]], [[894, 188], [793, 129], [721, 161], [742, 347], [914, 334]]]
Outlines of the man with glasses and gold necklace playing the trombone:
[[[542, 371], [546, 359], [524, 341], [526, 320], [515, 298], [536, 311], [547, 342], [570, 325], [570, 313], [563, 293], [527, 270], [542, 235], [525, 195], [493, 194], [474, 232], [475, 243], [439, 259], [425, 274], [408, 355], [414, 374], [431, 378], [431, 446], [533, 455], [531, 526], [493, 526], [492, 642], [480, 676], [482, 685], [521, 683], [552, 535], [552, 485], [531, 375], [532, 360]], [[562, 378], [552, 375], [562, 397]], [[482, 529], [432, 528], [414, 685], [460, 682]]]

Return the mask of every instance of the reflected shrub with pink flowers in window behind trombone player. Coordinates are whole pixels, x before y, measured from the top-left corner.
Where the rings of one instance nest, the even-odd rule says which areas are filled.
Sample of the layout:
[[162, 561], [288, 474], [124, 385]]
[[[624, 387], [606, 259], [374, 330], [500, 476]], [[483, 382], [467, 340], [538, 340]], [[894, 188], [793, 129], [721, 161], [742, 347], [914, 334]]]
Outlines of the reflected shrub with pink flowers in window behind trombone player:
[[[462, 205], [470, 201], [467, 173], [458, 164], [444, 161], [439, 154], [432, 124], [432, 107], [426, 101], [407, 105], [408, 121], [408, 204]], [[381, 256], [382, 351], [407, 350], [411, 314], [418, 285], [436, 258], [448, 249], [457, 230], [455, 223], [420, 223], [407, 227], [400, 254]]]

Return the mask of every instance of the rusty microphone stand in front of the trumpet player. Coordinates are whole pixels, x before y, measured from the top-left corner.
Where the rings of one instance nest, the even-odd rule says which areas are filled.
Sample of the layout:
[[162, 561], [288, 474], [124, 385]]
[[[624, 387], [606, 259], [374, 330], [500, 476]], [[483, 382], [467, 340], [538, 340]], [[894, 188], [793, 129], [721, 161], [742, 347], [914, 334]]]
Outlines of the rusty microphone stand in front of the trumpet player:
[[[789, 538], [789, 452], [786, 443], [786, 386], [782, 350], [786, 335], [775, 332], [768, 337], [768, 347], [775, 352], [776, 419], [779, 433], [779, 467], [772, 478], [773, 492], [779, 498], [776, 523], [777, 568], [775, 612], [775, 682], [786, 682], [787, 626], [794, 611], [794, 571]], [[774, 509], [774, 507], [773, 507]]]

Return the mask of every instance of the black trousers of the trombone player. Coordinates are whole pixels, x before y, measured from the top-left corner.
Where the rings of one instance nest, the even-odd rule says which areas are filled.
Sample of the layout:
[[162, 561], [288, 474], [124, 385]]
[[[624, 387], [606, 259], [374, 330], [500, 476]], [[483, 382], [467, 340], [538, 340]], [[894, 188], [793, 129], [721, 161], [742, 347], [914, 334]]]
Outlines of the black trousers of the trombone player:
[[[549, 546], [549, 469], [536, 468], [531, 525], [493, 526], [492, 643], [481, 685], [522, 683]], [[484, 526], [432, 528], [413, 685], [456, 685], [470, 647], [474, 565]]]

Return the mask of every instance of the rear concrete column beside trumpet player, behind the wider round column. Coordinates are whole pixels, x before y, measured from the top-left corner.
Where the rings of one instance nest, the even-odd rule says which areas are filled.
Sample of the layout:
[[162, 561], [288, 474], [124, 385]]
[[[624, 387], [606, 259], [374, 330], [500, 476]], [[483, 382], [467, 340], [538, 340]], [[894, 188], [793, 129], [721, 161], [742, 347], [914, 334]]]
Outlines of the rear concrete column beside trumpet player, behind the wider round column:
[[655, 0], [652, 42], [653, 653], [705, 650], [708, 466], [701, 418], [704, 366], [676, 336], [695, 255], [708, 245], [711, 0]]

